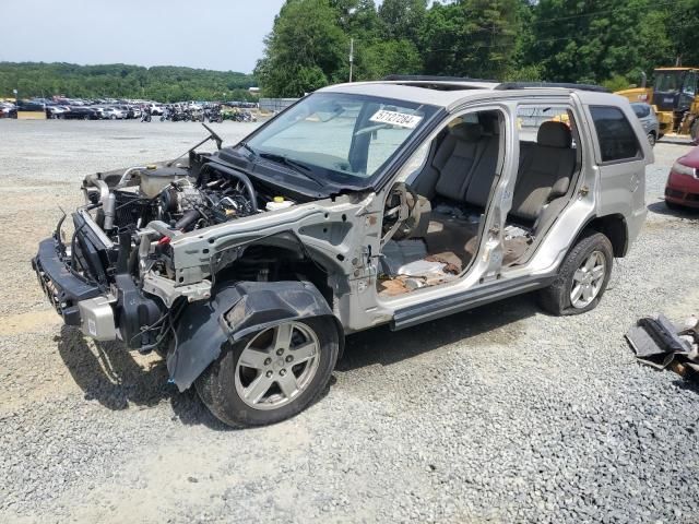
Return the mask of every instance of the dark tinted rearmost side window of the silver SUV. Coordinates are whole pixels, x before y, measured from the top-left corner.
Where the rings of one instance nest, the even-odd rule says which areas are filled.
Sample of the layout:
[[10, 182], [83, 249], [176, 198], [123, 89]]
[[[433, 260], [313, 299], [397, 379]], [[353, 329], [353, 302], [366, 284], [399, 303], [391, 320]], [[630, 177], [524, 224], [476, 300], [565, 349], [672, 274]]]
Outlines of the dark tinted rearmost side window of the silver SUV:
[[590, 114], [600, 140], [602, 162], [629, 160], [641, 156], [633, 128], [619, 108], [591, 106]]

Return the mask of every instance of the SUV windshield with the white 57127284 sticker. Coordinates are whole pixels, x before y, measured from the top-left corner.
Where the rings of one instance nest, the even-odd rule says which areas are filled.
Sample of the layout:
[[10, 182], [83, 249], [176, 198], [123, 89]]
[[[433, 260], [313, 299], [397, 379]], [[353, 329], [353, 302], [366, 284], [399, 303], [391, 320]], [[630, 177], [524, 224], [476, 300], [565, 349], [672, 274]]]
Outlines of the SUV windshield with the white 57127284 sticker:
[[258, 155], [303, 164], [322, 177], [369, 178], [437, 110], [388, 98], [316, 93], [248, 140]]

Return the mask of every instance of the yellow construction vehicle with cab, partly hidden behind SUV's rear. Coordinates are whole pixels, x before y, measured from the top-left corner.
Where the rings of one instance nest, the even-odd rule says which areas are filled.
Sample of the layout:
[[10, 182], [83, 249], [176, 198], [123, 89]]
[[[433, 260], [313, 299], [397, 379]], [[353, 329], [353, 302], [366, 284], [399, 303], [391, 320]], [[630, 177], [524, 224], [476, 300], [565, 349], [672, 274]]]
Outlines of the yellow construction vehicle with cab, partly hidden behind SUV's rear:
[[[655, 109], [660, 122], [660, 136], [664, 134], [690, 135], [699, 139], [699, 68], [657, 68], [653, 71], [653, 85], [645, 86], [645, 74], [640, 87], [617, 91], [630, 102], [645, 102]], [[659, 138], [660, 138], [659, 136]]]

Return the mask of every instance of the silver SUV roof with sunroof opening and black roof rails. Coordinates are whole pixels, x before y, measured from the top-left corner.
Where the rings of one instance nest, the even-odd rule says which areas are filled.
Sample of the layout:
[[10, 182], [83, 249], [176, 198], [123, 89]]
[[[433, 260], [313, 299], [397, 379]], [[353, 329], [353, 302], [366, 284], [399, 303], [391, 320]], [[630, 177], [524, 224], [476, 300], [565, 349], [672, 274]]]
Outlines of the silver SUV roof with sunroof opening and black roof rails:
[[576, 84], [510, 84], [482, 80], [382, 80], [353, 82], [323, 87], [317, 93], [343, 93], [379, 96], [415, 104], [451, 109], [462, 103], [477, 99], [561, 96], [578, 93], [585, 103], [618, 103], [626, 99], [604, 92], [597, 86]]

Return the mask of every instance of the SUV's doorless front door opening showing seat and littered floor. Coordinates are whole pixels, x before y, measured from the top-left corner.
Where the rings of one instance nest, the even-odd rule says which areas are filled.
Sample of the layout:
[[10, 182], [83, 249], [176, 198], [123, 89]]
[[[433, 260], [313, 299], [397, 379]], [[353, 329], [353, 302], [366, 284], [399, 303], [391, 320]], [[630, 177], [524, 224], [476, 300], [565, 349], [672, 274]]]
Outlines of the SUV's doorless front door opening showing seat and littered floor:
[[449, 283], [471, 266], [503, 163], [503, 122], [498, 110], [452, 119], [417, 152], [422, 162], [406, 181], [394, 183], [383, 216], [380, 296]]

